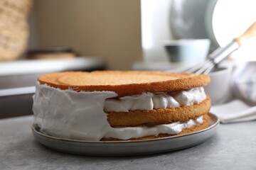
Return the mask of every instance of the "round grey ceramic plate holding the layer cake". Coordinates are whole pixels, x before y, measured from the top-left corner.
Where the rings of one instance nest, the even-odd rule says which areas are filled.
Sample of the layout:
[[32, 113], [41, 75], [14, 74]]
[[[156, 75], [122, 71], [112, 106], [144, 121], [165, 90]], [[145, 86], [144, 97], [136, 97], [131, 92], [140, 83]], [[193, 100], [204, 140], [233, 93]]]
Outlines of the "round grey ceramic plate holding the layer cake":
[[38, 140], [42, 145], [60, 152], [67, 152], [71, 154], [108, 157], [156, 154], [192, 147], [208, 140], [208, 138], [215, 133], [218, 124], [220, 123], [220, 120], [215, 115], [211, 113], [209, 113], [209, 115], [210, 127], [208, 128], [185, 135], [162, 137], [152, 140], [114, 142], [68, 140], [45, 135], [39, 132], [34, 125], [32, 125], [32, 132], [36, 140]]

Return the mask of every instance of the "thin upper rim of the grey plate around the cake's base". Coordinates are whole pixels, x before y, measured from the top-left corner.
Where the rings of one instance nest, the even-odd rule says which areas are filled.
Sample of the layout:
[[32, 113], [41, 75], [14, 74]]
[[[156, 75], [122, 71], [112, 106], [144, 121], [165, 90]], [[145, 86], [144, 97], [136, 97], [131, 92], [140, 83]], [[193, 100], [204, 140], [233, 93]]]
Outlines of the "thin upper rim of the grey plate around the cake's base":
[[173, 138], [180, 138], [180, 137], [185, 137], [185, 136], [189, 136], [189, 135], [195, 135], [201, 132], [205, 132], [207, 130], [210, 130], [212, 128], [215, 128], [216, 126], [218, 126], [220, 124], [220, 119], [218, 118], [217, 115], [214, 115], [213, 113], [208, 113], [208, 115], [210, 116], [210, 126], [208, 126], [207, 128], [204, 128], [203, 130], [198, 130], [196, 132], [190, 132], [190, 133], [186, 133], [183, 135], [174, 135], [174, 136], [169, 136], [169, 137], [159, 137], [159, 138], [154, 138], [154, 139], [148, 139], [148, 140], [121, 140], [121, 141], [88, 141], [88, 140], [72, 140], [72, 139], [65, 139], [65, 138], [61, 138], [61, 137], [54, 137], [54, 136], [50, 136], [50, 135], [46, 135], [43, 132], [40, 132], [38, 130], [36, 130], [35, 124], [31, 125], [31, 130], [32, 132], [36, 133], [37, 135], [40, 135], [41, 137], [46, 137], [48, 139], [51, 140], [59, 140], [59, 141], [63, 141], [63, 142], [75, 142], [75, 143], [86, 143], [86, 144], [94, 144], [94, 145], [99, 145], [99, 144], [105, 144], [105, 145], [110, 145], [110, 144], [131, 144], [131, 143], [139, 143], [139, 142], [155, 142], [155, 141], [160, 141], [160, 140], [170, 140]]

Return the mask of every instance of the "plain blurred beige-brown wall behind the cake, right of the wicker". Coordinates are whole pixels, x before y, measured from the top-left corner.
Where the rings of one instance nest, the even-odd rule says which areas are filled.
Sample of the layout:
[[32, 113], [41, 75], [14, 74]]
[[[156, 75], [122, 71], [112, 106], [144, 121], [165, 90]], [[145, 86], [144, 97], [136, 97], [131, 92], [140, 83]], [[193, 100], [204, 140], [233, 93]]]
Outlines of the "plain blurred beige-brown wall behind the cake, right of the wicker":
[[140, 1], [33, 1], [28, 47], [71, 47], [102, 57], [107, 69], [132, 69], [142, 60]]

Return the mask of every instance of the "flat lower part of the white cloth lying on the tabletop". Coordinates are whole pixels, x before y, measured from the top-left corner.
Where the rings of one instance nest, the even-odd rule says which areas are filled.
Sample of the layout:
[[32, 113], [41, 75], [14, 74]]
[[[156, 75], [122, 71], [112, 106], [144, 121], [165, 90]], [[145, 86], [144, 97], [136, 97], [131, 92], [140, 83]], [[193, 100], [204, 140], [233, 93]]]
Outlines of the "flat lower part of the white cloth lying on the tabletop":
[[256, 120], [256, 106], [249, 106], [238, 99], [222, 105], [212, 106], [210, 113], [217, 115], [221, 123]]

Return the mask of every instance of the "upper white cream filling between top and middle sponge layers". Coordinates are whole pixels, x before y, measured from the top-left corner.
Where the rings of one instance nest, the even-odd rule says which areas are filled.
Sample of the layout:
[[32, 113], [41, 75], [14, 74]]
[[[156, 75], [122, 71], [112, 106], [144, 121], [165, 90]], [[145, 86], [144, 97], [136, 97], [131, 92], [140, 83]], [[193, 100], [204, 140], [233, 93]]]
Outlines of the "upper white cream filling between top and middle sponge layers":
[[203, 87], [170, 93], [143, 93], [139, 95], [108, 98], [105, 101], [106, 112], [128, 112], [152, 110], [153, 108], [178, 108], [201, 103], [206, 99]]

